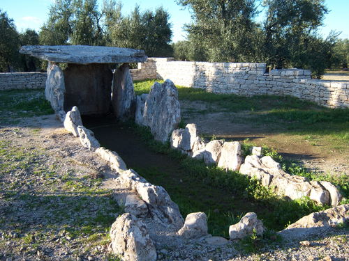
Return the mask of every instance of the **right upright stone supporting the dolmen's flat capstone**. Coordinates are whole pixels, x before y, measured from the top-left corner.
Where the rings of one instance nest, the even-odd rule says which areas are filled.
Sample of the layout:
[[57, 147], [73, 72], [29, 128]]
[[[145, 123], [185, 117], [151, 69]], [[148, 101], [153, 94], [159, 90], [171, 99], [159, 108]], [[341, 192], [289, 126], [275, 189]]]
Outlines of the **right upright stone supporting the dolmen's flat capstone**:
[[121, 65], [114, 73], [112, 109], [119, 120], [133, 118], [135, 114], [135, 90], [127, 63]]

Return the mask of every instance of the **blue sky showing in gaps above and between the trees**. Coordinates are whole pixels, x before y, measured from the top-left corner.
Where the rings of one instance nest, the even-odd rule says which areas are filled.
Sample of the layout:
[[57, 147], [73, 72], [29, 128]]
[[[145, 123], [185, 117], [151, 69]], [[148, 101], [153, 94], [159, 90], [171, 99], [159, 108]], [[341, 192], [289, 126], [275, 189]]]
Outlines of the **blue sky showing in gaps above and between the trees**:
[[[15, 21], [18, 31], [27, 28], [38, 31], [47, 20], [48, 10], [53, 2], [54, 0], [0, 0], [0, 8]], [[100, 6], [102, 2], [98, 0]], [[140, 5], [141, 10], [155, 10], [156, 7], [163, 6], [171, 15], [172, 41], [185, 39], [186, 33], [182, 27], [191, 21], [191, 15], [174, 0], [122, 0], [121, 3], [124, 15], [130, 13], [136, 3]], [[342, 32], [340, 38], [349, 38], [349, 0], [326, 0], [325, 4], [331, 12], [326, 15], [321, 33], [326, 36], [329, 31], [336, 30]]]

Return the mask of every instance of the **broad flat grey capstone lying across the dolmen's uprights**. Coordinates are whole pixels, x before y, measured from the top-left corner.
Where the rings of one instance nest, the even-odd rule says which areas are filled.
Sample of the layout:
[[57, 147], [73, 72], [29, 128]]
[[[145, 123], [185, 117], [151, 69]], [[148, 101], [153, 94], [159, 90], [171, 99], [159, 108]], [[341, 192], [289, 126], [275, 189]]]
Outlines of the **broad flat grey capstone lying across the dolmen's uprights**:
[[56, 63], [141, 63], [147, 61], [143, 50], [88, 45], [26, 45], [21, 54]]

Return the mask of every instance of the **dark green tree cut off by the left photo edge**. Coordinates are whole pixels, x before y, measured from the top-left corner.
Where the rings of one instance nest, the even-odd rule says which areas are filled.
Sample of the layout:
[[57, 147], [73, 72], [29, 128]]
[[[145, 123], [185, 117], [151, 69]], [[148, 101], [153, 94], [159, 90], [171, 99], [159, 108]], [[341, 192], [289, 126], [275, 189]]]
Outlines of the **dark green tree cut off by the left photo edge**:
[[0, 72], [10, 72], [19, 66], [19, 45], [13, 19], [0, 9]]

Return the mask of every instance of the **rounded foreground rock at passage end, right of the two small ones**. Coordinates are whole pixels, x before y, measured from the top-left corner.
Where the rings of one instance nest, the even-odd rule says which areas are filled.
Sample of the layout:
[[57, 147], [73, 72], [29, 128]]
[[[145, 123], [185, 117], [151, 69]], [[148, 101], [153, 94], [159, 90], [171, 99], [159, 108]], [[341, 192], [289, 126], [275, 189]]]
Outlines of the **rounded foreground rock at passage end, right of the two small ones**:
[[253, 230], [255, 230], [256, 235], [262, 235], [265, 228], [254, 212], [248, 212], [239, 223], [229, 227], [229, 237], [230, 239], [243, 239], [252, 235]]

